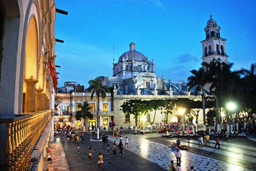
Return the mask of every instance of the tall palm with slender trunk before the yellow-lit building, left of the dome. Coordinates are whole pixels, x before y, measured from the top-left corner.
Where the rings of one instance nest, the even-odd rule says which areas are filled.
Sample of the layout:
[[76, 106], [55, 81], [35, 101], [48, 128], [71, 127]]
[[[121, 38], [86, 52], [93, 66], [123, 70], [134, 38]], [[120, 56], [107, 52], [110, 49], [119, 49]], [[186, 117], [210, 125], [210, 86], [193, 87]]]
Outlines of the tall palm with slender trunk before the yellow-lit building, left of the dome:
[[87, 89], [91, 92], [91, 100], [94, 98], [94, 94], [97, 97], [97, 127], [99, 127], [99, 98], [105, 98], [108, 92], [108, 87], [105, 87], [100, 82], [100, 79], [92, 79], [89, 81], [89, 88]]

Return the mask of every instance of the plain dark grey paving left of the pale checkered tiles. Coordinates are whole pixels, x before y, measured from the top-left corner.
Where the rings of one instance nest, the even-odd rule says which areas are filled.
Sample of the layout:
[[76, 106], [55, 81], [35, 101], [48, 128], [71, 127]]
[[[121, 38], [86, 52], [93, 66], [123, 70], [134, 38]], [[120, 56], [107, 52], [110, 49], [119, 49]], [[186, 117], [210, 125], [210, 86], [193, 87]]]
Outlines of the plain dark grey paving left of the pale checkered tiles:
[[[97, 164], [97, 156], [99, 155], [99, 152], [103, 154], [104, 170], [164, 170], [162, 167], [159, 167], [158, 164], [148, 162], [148, 160], [143, 159], [143, 157], [138, 156], [131, 151], [127, 151], [126, 149], [123, 151], [123, 157], [119, 156], [118, 154], [113, 154], [112, 150], [110, 150], [110, 154], [108, 155], [107, 145], [110, 143], [112, 149], [113, 143], [92, 142], [89, 139], [93, 138], [93, 136], [88, 133], [86, 133], [85, 138], [86, 141], [84, 143], [80, 143], [79, 154], [77, 153], [77, 143], [67, 143], [67, 140], [62, 142], [70, 171], [102, 170], [102, 168], [98, 167]], [[94, 138], [96, 138], [96, 135], [94, 135]], [[91, 147], [93, 151], [92, 164], [89, 164], [89, 147]], [[118, 148], [116, 152], [119, 152]]]

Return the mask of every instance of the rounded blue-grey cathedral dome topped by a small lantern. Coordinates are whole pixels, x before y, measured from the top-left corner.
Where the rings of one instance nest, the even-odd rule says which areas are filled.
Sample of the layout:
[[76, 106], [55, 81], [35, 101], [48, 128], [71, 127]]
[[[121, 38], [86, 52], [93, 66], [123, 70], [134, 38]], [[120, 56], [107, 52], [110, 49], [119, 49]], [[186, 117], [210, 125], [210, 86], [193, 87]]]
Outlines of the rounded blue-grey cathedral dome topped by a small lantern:
[[119, 57], [118, 63], [121, 63], [127, 60], [146, 62], [147, 58], [145, 57], [145, 55], [135, 50], [135, 44], [132, 42], [129, 44], [129, 51], [124, 52], [124, 54]]

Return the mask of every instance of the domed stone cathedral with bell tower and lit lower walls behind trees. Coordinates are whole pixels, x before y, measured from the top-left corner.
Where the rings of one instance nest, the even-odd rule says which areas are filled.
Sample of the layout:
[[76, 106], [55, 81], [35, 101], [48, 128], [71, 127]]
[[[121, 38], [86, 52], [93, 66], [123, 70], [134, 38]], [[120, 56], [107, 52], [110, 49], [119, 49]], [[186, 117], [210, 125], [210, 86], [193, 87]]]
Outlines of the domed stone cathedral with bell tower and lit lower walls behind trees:
[[[204, 29], [206, 39], [201, 41], [203, 48], [202, 61], [210, 63], [211, 60], [219, 59], [227, 63], [226, 39], [220, 36], [220, 27], [217, 22], [211, 17]], [[109, 122], [116, 122], [117, 126], [127, 127], [135, 125], [135, 118], [124, 114], [121, 111], [121, 105], [131, 99], [153, 100], [153, 99], [176, 99], [189, 98], [191, 100], [201, 100], [200, 93], [195, 95], [195, 89], [188, 92], [187, 83], [184, 81], [173, 82], [165, 80], [165, 77], [157, 76], [157, 67], [154, 60], [149, 60], [147, 56], [139, 52], [135, 48], [135, 43], [129, 44], [129, 50], [124, 52], [117, 63], [113, 63], [113, 76], [98, 76], [102, 85], [113, 88], [113, 93], [107, 93], [105, 99], [99, 101], [100, 127], [108, 127]], [[56, 93], [56, 106], [62, 108], [64, 113], [72, 113], [75, 116], [77, 106], [84, 101], [89, 103], [94, 118], [81, 124], [96, 125], [97, 117], [97, 101], [96, 98], [91, 100], [90, 92], [86, 90], [78, 91], [80, 85], [75, 85], [74, 90], [70, 91], [70, 87], [62, 87]], [[69, 90], [69, 91], [68, 91]], [[66, 97], [66, 98], [65, 98]], [[154, 112], [143, 118], [143, 126], [149, 125], [154, 118]], [[168, 119], [166, 121], [166, 119]], [[70, 121], [69, 121], [70, 122]], [[79, 122], [73, 124], [77, 125]], [[166, 111], [157, 111], [154, 119], [154, 124], [159, 126], [161, 123], [181, 122], [180, 116], [176, 111], [173, 115], [166, 117]], [[184, 121], [187, 123], [187, 119]], [[203, 112], [200, 111], [198, 122], [203, 123]], [[143, 127], [140, 122], [138, 127]], [[81, 125], [83, 127], [83, 125]]]

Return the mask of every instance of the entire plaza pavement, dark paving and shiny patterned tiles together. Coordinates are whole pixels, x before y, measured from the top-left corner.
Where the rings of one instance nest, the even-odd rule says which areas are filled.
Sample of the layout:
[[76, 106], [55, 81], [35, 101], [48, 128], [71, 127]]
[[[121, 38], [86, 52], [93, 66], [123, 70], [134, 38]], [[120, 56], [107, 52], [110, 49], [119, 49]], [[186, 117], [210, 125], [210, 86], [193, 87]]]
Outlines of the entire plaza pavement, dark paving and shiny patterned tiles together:
[[[110, 134], [110, 132], [105, 132]], [[177, 138], [162, 138], [159, 134], [126, 135], [129, 138], [129, 148], [124, 148], [124, 156], [106, 154], [107, 144], [112, 149], [113, 140], [119, 138], [109, 136], [108, 143], [91, 142], [96, 137], [86, 133], [86, 142], [80, 143], [80, 154], [77, 154], [77, 144], [62, 142], [69, 170], [102, 170], [97, 166], [97, 155], [102, 152], [105, 170], [169, 170], [170, 160], [176, 164], [176, 157], [170, 151], [170, 143]], [[255, 141], [247, 138], [231, 138], [220, 140], [220, 148], [214, 149], [214, 140], [210, 140], [211, 147], [198, 147], [198, 142], [191, 138], [181, 138], [181, 144], [189, 147], [188, 151], [181, 151], [181, 168], [188, 170], [194, 166], [195, 170], [256, 170]], [[89, 164], [88, 149], [93, 150], [93, 163]], [[117, 148], [117, 153], [118, 153]]]

